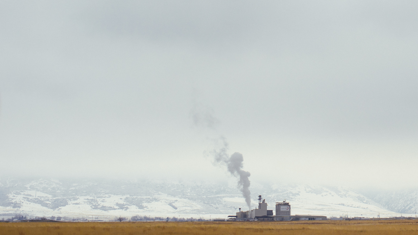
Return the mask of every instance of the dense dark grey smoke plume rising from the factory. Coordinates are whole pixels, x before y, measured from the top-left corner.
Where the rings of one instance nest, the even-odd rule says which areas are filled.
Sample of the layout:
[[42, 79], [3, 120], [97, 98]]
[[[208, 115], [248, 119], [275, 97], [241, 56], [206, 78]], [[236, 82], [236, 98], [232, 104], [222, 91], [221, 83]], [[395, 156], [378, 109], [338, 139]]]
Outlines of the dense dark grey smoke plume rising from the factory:
[[242, 170], [244, 157], [241, 153], [235, 152], [231, 156], [227, 154], [228, 143], [225, 138], [222, 138], [224, 146], [219, 151], [214, 150], [212, 154], [215, 157], [217, 163], [225, 164], [229, 173], [238, 179], [238, 188], [242, 192], [242, 196], [247, 202], [248, 208], [251, 209], [251, 196], [250, 196], [250, 172]]

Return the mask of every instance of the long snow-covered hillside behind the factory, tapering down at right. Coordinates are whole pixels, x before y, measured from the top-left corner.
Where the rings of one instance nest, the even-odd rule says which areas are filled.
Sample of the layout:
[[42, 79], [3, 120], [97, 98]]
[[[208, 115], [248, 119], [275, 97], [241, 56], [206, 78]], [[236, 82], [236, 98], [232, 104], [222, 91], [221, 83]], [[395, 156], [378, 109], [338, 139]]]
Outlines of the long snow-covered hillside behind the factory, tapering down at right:
[[[343, 187], [252, 184], [252, 208], [263, 195], [268, 209], [287, 200], [292, 214], [396, 216]], [[247, 209], [235, 184], [118, 180], [0, 180], [0, 216], [126, 216], [206, 218]]]

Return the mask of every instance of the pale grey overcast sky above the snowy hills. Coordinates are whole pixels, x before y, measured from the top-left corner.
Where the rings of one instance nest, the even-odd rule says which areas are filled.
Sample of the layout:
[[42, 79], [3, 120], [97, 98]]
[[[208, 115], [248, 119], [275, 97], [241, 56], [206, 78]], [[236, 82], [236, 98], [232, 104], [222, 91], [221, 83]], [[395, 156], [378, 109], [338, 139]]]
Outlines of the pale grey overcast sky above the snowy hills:
[[413, 187], [417, 9], [3, 0], [0, 172]]

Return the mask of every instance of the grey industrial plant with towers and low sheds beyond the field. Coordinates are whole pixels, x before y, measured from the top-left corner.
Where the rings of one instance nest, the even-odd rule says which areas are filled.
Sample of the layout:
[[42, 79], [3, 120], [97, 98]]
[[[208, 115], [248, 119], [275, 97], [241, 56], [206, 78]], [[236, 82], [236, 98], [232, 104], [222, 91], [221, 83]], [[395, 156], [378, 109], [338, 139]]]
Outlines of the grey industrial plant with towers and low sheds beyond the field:
[[291, 205], [289, 202], [276, 202], [276, 215], [273, 210], [267, 209], [265, 199], [258, 196], [258, 208], [240, 211], [236, 215], [228, 216], [229, 220], [266, 220], [266, 221], [283, 221], [283, 220], [326, 220], [326, 216], [321, 215], [291, 215]]

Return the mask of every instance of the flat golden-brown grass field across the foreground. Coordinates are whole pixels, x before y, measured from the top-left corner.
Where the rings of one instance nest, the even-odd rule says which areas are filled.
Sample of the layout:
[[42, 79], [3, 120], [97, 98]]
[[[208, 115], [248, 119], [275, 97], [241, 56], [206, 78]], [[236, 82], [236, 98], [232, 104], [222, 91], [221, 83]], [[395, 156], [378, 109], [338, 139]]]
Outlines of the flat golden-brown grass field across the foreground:
[[418, 220], [289, 222], [9, 222], [0, 235], [418, 235]]

